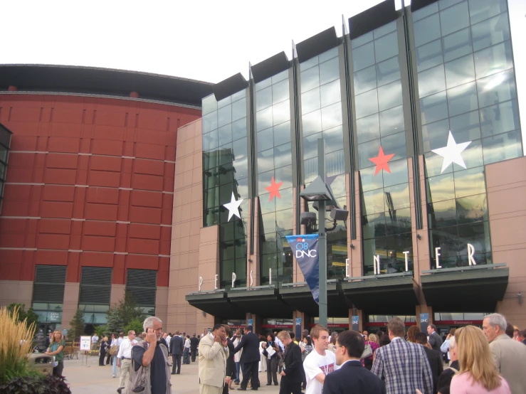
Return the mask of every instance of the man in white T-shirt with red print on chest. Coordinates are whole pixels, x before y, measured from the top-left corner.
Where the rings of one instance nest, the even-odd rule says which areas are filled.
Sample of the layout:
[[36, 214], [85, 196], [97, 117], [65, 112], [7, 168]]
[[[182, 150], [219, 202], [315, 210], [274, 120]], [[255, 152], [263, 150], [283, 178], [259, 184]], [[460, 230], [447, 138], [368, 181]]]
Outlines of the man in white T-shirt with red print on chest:
[[320, 324], [316, 324], [310, 331], [310, 338], [314, 343], [314, 351], [311, 351], [305, 361], [305, 377], [307, 378], [307, 388], [305, 394], [322, 394], [325, 376], [336, 371], [335, 353], [327, 351], [329, 347], [329, 331]]

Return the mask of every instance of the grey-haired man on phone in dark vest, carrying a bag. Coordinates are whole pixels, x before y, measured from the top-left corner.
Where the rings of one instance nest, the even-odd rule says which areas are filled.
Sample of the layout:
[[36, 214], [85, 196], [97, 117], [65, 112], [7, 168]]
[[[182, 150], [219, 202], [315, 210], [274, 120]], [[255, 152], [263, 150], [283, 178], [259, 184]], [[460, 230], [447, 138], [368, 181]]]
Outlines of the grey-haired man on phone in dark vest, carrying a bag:
[[[146, 393], [172, 393], [168, 349], [161, 342], [162, 321], [158, 317], [149, 316], [142, 326], [146, 337], [132, 348], [132, 373], [126, 393], [140, 393], [147, 389], [145, 385], [149, 386]], [[144, 380], [141, 373], [144, 373]]]

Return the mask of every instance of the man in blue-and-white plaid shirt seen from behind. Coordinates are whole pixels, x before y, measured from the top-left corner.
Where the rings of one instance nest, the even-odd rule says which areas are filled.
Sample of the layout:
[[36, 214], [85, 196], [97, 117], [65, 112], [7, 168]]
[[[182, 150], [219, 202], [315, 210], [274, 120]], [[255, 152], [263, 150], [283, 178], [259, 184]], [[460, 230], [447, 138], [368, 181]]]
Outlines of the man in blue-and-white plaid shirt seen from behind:
[[387, 325], [391, 344], [378, 348], [371, 372], [385, 381], [386, 394], [433, 394], [433, 373], [424, 348], [404, 339], [404, 322], [395, 317]]

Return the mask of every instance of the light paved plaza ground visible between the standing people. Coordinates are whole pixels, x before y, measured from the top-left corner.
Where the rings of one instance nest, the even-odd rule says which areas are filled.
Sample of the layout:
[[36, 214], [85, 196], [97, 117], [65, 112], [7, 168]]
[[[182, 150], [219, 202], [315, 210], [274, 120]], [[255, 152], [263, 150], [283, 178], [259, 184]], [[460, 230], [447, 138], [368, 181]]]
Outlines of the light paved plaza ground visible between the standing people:
[[[111, 366], [99, 366], [98, 357], [88, 356], [87, 366], [85, 365], [86, 358], [81, 360], [64, 360], [64, 376], [70, 385], [71, 393], [73, 394], [115, 394], [119, 386], [119, 368], [117, 368], [117, 378], [112, 378]], [[181, 367], [181, 375], [172, 375], [172, 393], [177, 394], [199, 394], [199, 379], [197, 376], [197, 361], [190, 365], [183, 365]], [[279, 387], [272, 385], [266, 386], [267, 373], [259, 373], [261, 381], [261, 388], [259, 392], [265, 394], [279, 393]], [[278, 380], [280, 378], [278, 377]], [[239, 385], [234, 385], [238, 388]], [[237, 390], [231, 390], [231, 394], [238, 393]], [[248, 393], [253, 393], [248, 390]]]

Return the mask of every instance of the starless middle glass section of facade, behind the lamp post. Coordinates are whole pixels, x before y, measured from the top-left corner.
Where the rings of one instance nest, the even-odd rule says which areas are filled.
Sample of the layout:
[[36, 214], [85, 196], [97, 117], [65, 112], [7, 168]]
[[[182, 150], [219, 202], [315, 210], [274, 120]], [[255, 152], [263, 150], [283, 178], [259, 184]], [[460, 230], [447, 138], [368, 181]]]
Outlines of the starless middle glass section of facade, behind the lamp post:
[[[308, 185], [317, 176], [317, 140], [325, 141], [325, 183], [340, 208], [346, 205], [343, 112], [339, 49], [332, 48], [300, 63], [303, 174]], [[312, 203], [309, 211], [315, 211]], [[325, 228], [332, 228], [325, 215]], [[345, 276], [347, 228], [339, 222], [327, 231], [327, 279]]]

